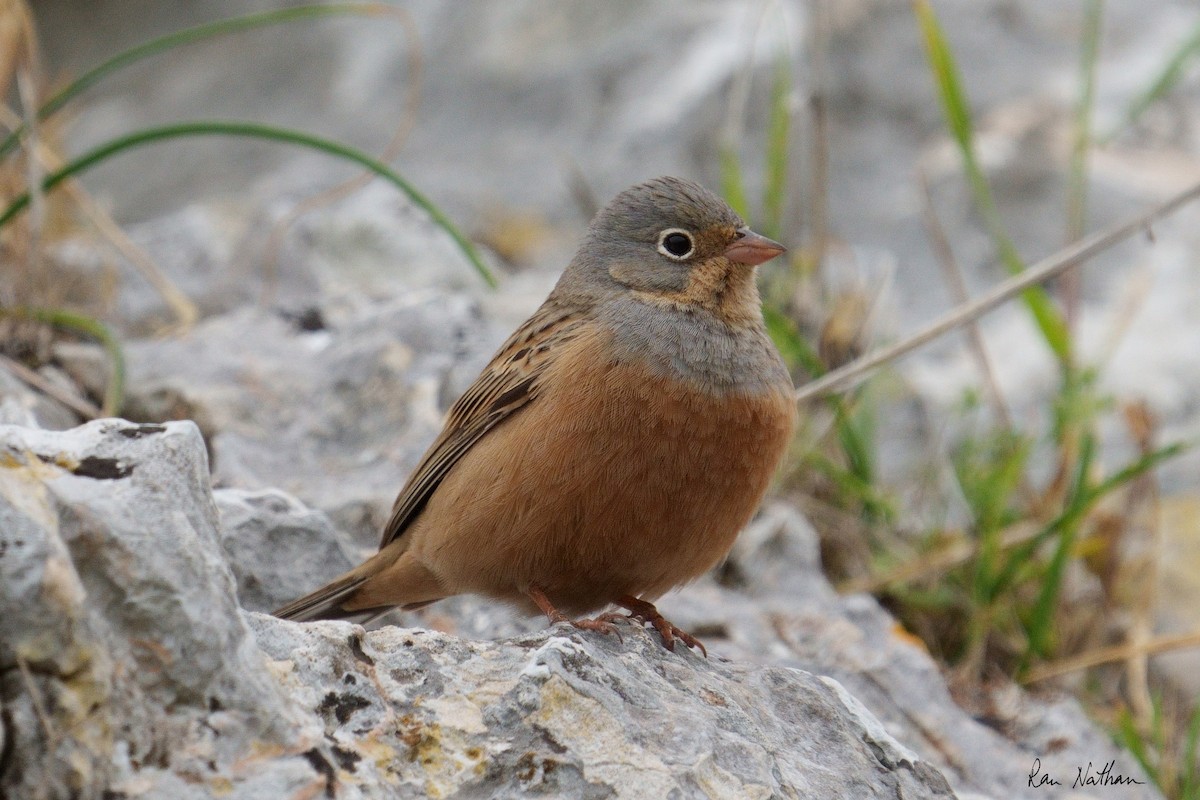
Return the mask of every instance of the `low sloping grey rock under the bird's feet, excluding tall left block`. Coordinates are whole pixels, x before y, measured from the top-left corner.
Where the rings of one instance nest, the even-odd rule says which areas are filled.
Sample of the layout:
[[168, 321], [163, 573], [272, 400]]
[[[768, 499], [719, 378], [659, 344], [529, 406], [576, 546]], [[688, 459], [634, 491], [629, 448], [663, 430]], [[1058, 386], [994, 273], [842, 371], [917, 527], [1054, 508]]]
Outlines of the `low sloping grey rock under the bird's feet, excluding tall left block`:
[[668, 654], [644, 631], [252, 624], [346, 771], [396, 796], [953, 796], [832, 681]]

